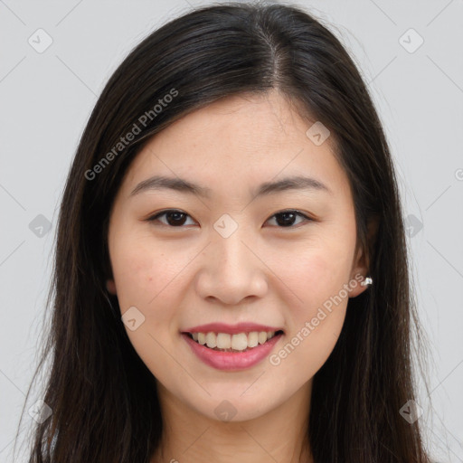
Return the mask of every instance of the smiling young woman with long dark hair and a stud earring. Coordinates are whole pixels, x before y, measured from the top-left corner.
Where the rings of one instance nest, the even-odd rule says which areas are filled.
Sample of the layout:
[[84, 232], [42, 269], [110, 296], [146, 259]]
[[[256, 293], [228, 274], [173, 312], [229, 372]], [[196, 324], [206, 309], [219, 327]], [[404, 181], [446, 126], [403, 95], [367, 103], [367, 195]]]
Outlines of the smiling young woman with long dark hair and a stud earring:
[[165, 24], [71, 166], [30, 461], [428, 462], [407, 259], [383, 128], [326, 27], [243, 3]]

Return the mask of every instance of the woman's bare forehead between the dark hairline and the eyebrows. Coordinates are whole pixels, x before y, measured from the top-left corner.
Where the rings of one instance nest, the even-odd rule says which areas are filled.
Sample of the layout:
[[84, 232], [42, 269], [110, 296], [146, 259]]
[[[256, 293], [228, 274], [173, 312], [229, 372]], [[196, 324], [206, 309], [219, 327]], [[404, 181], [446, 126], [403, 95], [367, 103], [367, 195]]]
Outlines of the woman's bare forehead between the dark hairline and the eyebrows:
[[208, 185], [217, 194], [238, 194], [244, 184], [310, 175], [348, 193], [332, 137], [319, 146], [307, 137], [314, 122], [278, 92], [220, 99], [152, 137], [130, 165], [125, 188], [150, 175], [169, 175]]

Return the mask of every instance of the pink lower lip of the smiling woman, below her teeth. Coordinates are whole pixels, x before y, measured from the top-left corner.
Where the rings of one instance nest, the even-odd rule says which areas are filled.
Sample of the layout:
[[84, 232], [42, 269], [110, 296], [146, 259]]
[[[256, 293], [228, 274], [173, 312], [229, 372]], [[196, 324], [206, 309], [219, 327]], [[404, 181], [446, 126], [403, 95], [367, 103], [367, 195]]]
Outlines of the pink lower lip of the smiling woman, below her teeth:
[[194, 354], [198, 356], [204, 364], [208, 364], [217, 370], [244, 370], [255, 364], [259, 364], [279, 342], [279, 335], [274, 335], [264, 344], [256, 345], [249, 351], [245, 352], [221, 352], [214, 351], [209, 347], [201, 345], [194, 341], [189, 335], [182, 333], [184, 340], [190, 345]]

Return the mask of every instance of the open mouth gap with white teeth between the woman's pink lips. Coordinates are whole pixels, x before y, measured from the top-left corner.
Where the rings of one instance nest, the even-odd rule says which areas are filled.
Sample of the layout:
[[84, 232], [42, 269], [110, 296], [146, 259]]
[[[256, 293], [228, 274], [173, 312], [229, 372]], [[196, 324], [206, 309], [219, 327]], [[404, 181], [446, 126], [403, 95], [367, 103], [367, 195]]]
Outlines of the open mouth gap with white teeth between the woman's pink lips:
[[270, 339], [283, 335], [283, 330], [277, 331], [250, 331], [242, 333], [221, 333], [221, 332], [184, 332], [198, 345], [203, 345], [212, 351], [217, 352], [248, 352], [266, 344]]

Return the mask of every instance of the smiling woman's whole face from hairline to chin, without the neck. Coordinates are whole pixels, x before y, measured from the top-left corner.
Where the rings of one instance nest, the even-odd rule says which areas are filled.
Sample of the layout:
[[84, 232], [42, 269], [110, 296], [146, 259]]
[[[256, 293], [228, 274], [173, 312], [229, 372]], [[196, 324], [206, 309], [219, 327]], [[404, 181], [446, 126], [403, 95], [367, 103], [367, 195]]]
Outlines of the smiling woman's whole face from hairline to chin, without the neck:
[[[108, 288], [130, 342], [162, 394], [213, 420], [307, 388], [364, 290], [348, 179], [313, 123], [276, 92], [227, 97], [153, 137], [115, 199]], [[271, 187], [293, 176], [318, 184]]]

